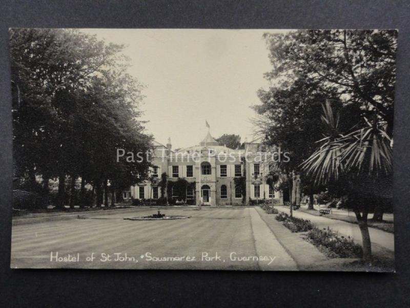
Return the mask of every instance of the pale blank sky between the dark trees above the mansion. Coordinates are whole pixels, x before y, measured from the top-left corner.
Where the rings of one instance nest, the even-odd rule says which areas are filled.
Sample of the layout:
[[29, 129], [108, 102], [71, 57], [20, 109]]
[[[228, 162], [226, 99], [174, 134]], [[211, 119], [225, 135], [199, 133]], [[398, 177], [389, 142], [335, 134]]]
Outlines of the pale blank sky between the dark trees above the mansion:
[[83, 29], [125, 44], [128, 72], [145, 85], [140, 109], [156, 141], [185, 148], [210, 132], [254, 139], [251, 106], [260, 104], [263, 73], [272, 69], [263, 33], [287, 30]]

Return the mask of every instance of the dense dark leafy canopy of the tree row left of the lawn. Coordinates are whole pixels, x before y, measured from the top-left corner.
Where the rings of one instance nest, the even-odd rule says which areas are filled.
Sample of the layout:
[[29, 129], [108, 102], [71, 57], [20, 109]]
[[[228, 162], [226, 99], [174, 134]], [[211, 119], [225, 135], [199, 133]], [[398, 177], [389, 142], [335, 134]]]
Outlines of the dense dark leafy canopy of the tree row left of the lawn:
[[58, 178], [61, 208], [67, 176], [83, 180], [81, 205], [86, 184], [99, 205], [104, 183], [114, 195], [147, 174], [147, 161], [116, 161], [116, 148], [145, 152], [151, 141], [138, 120], [143, 87], [122, 48], [78, 30], [10, 30], [14, 178], [32, 191], [42, 176], [46, 195], [48, 179]]

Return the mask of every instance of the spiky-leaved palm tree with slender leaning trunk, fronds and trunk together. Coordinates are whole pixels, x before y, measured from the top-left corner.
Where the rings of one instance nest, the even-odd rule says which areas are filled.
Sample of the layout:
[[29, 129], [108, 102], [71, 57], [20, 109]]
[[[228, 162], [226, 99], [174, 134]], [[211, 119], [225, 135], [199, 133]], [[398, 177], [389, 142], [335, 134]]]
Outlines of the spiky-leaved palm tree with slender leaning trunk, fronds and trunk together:
[[[334, 115], [329, 101], [322, 106], [322, 122], [328, 128], [328, 136], [318, 141], [319, 148], [301, 166], [306, 174], [315, 179], [315, 184], [327, 184], [348, 178], [352, 189], [348, 196], [353, 207], [363, 241], [363, 259], [372, 260], [372, 248], [367, 226], [368, 202], [363, 195], [376, 194], [379, 179], [392, 172], [393, 139], [386, 132], [387, 124], [374, 110], [372, 122], [363, 118], [364, 127], [350, 133], [338, 131], [339, 115]], [[361, 187], [355, 192], [354, 186]], [[364, 189], [363, 189], [364, 188]], [[362, 195], [362, 196], [360, 196]]]

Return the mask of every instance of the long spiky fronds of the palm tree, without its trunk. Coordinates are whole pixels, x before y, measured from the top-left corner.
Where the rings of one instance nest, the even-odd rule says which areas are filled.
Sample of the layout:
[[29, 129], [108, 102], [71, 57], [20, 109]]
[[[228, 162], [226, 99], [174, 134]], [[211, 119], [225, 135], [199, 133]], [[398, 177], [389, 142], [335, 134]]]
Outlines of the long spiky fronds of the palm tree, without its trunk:
[[[365, 119], [367, 127], [347, 134], [338, 133], [339, 117], [335, 118], [329, 102], [323, 106], [322, 121], [333, 133], [321, 140], [323, 143], [302, 166], [316, 183], [339, 179], [339, 174], [382, 170], [385, 174], [392, 171], [392, 139], [388, 137], [383, 125], [377, 121], [376, 110], [373, 124]], [[385, 125], [384, 125], [385, 127]], [[363, 170], [368, 162], [366, 170]]]

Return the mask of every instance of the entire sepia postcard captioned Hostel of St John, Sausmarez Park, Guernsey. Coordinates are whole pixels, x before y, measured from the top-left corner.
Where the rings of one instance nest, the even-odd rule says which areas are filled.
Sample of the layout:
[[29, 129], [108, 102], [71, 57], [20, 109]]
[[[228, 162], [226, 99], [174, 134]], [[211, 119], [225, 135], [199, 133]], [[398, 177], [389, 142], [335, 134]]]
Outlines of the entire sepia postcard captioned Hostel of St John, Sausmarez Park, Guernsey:
[[393, 272], [396, 30], [11, 28], [11, 268]]

